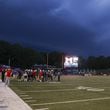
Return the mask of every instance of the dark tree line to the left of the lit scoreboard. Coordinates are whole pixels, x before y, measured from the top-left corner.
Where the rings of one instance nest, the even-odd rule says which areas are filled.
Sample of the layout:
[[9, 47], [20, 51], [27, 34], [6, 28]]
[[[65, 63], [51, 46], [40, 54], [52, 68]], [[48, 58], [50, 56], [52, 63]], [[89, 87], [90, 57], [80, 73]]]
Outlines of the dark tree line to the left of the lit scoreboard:
[[56, 67], [62, 66], [61, 52], [41, 52], [31, 48], [26, 48], [20, 44], [11, 44], [0, 41], [0, 64], [11, 65], [13, 67], [30, 68], [34, 64], [47, 64]]

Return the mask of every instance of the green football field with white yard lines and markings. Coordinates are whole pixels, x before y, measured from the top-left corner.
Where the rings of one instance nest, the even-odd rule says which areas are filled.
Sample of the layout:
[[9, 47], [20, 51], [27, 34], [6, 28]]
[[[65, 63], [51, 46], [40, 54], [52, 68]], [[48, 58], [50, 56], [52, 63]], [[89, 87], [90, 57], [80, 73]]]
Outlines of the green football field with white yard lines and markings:
[[62, 76], [61, 82], [19, 82], [10, 87], [33, 110], [110, 110], [110, 76]]

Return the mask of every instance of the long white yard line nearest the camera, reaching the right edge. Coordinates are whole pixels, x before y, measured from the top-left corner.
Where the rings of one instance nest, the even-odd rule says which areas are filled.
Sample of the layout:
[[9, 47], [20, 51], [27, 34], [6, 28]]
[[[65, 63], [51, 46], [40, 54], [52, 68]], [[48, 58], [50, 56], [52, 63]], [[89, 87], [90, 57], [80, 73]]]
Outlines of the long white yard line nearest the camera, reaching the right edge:
[[88, 101], [100, 101], [100, 100], [108, 100], [110, 97], [102, 97], [102, 98], [93, 98], [93, 99], [83, 99], [83, 100], [73, 100], [73, 101], [63, 101], [63, 102], [52, 102], [52, 103], [41, 103], [41, 104], [31, 104], [32, 106], [37, 105], [55, 105], [55, 104], [68, 104], [68, 103], [77, 103], [77, 102], [88, 102]]

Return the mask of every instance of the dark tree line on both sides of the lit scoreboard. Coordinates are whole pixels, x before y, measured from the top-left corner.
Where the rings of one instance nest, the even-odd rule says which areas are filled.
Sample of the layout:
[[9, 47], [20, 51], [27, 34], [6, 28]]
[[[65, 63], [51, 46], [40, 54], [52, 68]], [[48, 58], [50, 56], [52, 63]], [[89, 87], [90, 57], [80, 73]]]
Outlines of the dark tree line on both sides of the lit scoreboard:
[[[63, 52], [41, 52], [26, 48], [20, 44], [11, 44], [0, 41], [0, 64], [13, 67], [30, 68], [34, 64], [47, 64], [61, 68], [64, 63]], [[47, 59], [48, 58], [48, 59]], [[79, 69], [108, 69], [110, 68], [110, 56], [79, 56]]]

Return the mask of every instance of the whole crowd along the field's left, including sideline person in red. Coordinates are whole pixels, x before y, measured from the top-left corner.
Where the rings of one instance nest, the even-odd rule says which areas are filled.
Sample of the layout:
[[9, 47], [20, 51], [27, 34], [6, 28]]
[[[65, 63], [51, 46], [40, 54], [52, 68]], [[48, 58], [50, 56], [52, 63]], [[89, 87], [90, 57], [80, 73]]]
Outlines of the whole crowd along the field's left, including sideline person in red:
[[61, 71], [57, 69], [25, 69], [24, 71], [17, 71], [11, 68], [1, 70], [1, 79], [5, 85], [10, 84], [10, 78], [13, 77], [18, 81], [37, 81], [49, 82], [60, 81]]

